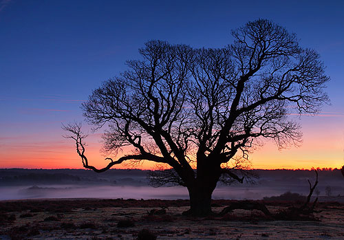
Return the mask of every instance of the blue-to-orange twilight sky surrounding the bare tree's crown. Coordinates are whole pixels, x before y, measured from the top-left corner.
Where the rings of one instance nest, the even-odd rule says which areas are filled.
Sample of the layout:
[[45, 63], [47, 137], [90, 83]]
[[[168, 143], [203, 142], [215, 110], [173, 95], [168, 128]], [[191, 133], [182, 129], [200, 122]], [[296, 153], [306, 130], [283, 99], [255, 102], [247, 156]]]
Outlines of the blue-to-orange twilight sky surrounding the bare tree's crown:
[[[297, 118], [301, 146], [279, 151], [266, 142], [250, 155], [252, 167], [341, 167], [344, 1], [0, 0], [0, 168], [82, 168], [61, 124], [83, 121], [81, 103], [125, 71], [125, 61], [140, 59], [145, 42], [224, 47], [233, 42], [230, 30], [259, 18], [296, 33], [302, 47], [321, 54], [331, 105], [318, 116]], [[86, 139], [96, 166], [107, 164], [100, 135]]]

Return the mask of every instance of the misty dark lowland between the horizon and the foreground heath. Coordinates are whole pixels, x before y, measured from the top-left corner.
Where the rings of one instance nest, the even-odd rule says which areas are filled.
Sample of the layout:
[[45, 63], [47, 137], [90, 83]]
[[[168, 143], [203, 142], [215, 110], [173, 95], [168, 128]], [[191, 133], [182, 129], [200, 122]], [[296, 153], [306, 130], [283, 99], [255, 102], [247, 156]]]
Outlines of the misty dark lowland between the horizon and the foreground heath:
[[[218, 184], [213, 199], [263, 199], [288, 191], [308, 195], [308, 179], [314, 184], [314, 171], [258, 170], [255, 184]], [[153, 188], [147, 172], [140, 170], [111, 170], [94, 173], [74, 169], [2, 169], [0, 170], [0, 200], [45, 198], [102, 199], [189, 199], [181, 186]], [[344, 179], [340, 171], [319, 171], [317, 193], [325, 201], [330, 197], [342, 199]], [[338, 200], [338, 199], [337, 199]]]

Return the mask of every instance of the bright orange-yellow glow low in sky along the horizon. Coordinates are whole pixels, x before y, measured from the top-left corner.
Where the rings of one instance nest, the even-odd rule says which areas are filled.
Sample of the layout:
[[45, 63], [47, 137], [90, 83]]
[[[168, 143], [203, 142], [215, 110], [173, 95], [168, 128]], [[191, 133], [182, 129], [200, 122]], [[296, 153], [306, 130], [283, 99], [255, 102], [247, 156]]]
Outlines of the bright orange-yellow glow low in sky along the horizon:
[[[83, 168], [83, 164], [78, 157], [72, 144], [56, 149], [42, 150], [39, 146], [21, 149], [21, 151], [7, 151], [1, 154], [0, 168]], [[330, 143], [325, 146], [315, 146], [303, 144], [301, 148], [290, 148], [277, 150], [271, 142], [265, 144], [261, 149], [257, 149], [250, 154], [252, 168], [259, 169], [311, 169], [311, 168], [341, 168], [343, 166], [343, 156], [339, 146], [330, 149]], [[97, 168], [103, 168], [109, 162], [105, 160], [99, 152], [99, 144], [87, 146], [85, 154], [89, 159], [89, 164]], [[125, 155], [125, 152], [118, 155]], [[114, 158], [114, 160], [117, 157]], [[139, 168], [142, 170], [153, 170], [157, 164], [155, 162], [143, 161], [140, 164], [119, 164], [113, 168]]]

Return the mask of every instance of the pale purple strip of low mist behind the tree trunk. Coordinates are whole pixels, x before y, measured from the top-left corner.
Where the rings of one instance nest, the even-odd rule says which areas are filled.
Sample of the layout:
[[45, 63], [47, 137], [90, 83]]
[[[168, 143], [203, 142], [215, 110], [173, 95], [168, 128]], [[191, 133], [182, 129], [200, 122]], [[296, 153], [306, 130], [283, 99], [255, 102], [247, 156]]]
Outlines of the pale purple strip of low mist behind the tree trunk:
[[[262, 199], [280, 195], [285, 190], [264, 187], [219, 186], [213, 199]], [[284, 191], [284, 192], [283, 192]], [[189, 199], [189, 193], [182, 186], [153, 188], [151, 186], [1, 186], [0, 200], [42, 199], [42, 198], [101, 198], [101, 199]]]

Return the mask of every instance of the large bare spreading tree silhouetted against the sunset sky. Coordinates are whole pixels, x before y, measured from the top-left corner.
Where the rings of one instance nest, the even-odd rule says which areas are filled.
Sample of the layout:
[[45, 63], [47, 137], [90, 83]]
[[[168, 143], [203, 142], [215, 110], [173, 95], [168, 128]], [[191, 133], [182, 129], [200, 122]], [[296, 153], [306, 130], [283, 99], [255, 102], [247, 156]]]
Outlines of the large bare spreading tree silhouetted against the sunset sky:
[[[142, 60], [128, 61], [120, 77], [107, 80], [83, 104], [84, 116], [107, 127], [104, 149], [133, 153], [98, 169], [85, 157], [80, 126], [65, 130], [76, 141], [85, 168], [103, 172], [125, 161], [148, 160], [171, 167], [162, 184], [189, 190], [192, 215], [211, 213], [217, 182], [243, 182], [250, 149], [264, 138], [282, 148], [301, 141], [291, 114], [316, 113], [327, 102], [330, 79], [314, 50], [299, 46], [271, 21], [259, 19], [233, 30], [222, 49], [193, 49], [149, 41]], [[171, 180], [171, 181], [167, 181]]]

